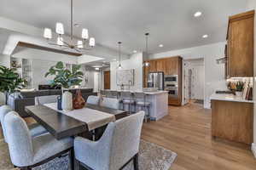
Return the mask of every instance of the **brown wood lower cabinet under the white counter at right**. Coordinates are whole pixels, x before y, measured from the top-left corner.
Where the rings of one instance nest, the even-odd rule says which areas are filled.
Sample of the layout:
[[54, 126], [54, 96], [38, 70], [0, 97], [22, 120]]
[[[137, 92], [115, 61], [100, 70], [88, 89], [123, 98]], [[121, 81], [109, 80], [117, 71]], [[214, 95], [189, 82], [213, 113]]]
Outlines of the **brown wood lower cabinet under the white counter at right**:
[[253, 103], [212, 99], [212, 137], [253, 143]]

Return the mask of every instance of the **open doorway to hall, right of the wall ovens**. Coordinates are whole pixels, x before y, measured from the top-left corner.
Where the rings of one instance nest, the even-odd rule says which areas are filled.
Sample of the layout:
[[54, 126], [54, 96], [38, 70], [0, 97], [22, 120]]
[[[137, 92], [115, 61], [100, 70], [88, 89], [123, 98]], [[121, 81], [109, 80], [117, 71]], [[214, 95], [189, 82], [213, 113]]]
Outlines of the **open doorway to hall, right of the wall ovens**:
[[186, 59], [184, 60], [184, 86], [183, 104], [193, 101], [197, 104], [204, 104], [205, 88], [205, 66], [204, 59]]

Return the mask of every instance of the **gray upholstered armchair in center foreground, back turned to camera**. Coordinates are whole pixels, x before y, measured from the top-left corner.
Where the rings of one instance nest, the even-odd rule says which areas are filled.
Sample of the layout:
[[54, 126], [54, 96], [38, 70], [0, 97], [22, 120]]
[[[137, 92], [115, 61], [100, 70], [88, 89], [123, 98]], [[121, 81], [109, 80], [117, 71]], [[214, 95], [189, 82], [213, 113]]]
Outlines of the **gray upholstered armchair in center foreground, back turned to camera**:
[[138, 151], [144, 111], [110, 122], [102, 138], [96, 142], [77, 137], [75, 159], [79, 165], [94, 170], [119, 170], [130, 161], [138, 169]]

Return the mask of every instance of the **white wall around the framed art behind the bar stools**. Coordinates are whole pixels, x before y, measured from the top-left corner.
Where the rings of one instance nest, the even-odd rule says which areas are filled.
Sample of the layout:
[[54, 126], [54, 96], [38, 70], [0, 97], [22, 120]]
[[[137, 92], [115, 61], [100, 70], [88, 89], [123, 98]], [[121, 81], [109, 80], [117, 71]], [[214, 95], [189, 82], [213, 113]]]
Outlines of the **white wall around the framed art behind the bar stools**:
[[[116, 71], [119, 62], [111, 62], [110, 63], [110, 88], [115, 90], [119, 89], [116, 84]], [[135, 77], [134, 77], [134, 86], [131, 86], [131, 90], [137, 90], [143, 88], [143, 54], [132, 54], [130, 59], [125, 59], [121, 61], [121, 65], [124, 70], [135, 70]]]

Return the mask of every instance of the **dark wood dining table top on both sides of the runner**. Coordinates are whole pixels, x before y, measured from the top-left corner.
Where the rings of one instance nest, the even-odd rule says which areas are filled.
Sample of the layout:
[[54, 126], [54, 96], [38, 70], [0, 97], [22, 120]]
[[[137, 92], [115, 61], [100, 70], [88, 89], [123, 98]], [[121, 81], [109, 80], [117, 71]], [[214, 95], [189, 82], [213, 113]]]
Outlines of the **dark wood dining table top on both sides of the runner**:
[[[113, 114], [116, 120], [127, 116], [125, 111], [109, 109], [99, 105], [86, 105], [85, 107]], [[88, 132], [85, 122], [80, 122], [71, 116], [62, 114], [61, 112], [50, 109], [44, 105], [26, 106], [26, 112], [32, 116], [39, 124], [51, 133], [55, 139], [63, 139], [75, 136], [79, 133]]]

